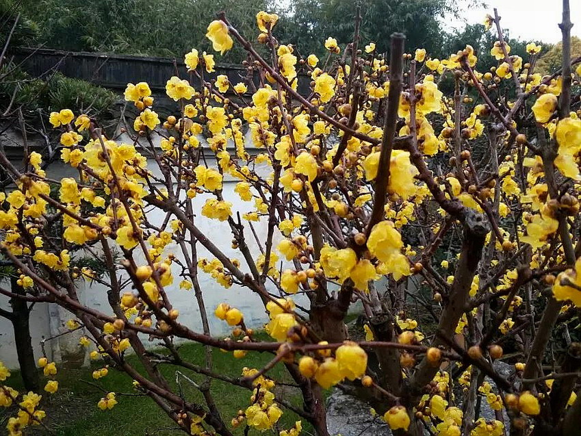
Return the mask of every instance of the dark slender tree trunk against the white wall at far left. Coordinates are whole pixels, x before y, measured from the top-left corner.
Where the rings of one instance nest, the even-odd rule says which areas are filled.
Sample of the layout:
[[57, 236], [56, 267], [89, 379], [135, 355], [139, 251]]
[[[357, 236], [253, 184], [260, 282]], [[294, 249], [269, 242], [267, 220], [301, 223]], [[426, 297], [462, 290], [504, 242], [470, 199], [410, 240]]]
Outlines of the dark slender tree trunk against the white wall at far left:
[[[16, 277], [10, 280], [12, 292], [14, 294], [24, 294], [22, 287], [16, 283]], [[12, 298], [12, 326], [14, 326], [14, 343], [18, 355], [21, 376], [24, 387], [28, 391], [38, 392], [40, 390], [40, 379], [36, 369], [34, 350], [32, 349], [32, 339], [30, 337], [30, 312], [25, 300]]]

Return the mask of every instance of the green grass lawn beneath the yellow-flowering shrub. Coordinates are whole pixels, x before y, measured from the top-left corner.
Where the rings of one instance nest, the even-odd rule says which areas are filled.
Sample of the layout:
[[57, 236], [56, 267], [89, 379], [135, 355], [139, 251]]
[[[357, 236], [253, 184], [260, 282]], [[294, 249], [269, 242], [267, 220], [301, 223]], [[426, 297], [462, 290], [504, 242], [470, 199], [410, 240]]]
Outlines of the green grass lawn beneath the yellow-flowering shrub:
[[[259, 333], [260, 339], [262, 338]], [[204, 350], [203, 346], [199, 344], [183, 344], [180, 348], [181, 355], [185, 360], [198, 365], [203, 364]], [[261, 368], [265, 363], [272, 359], [272, 355], [268, 353], [252, 352], [246, 355], [243, 359], [235, 359], [231, 352], [220, 352], [214, 350], [214, 372], [218, 374], [227, 374], [229, 376], [240, 376], [242, 368], [248, 366], [249, 368]], [[139, 367], [135, 356], [129, 355], [127, 360]], [[113, 368], [109, 369], [109, 374], [102, 379], [94, 380], [92, 378], [92, 371], [96, 368], [101, 368], [103, 362], [94, 363], [92, 368], [81, 369], [66, 369], [59, 368], [57, 374], [57, 381], [59, 382], [59, 390], [53, 396], [49, 396], [44, 392], [43, 397], [47, 398], [44, 402], [43, 409], [47, 411], [47, 425], [59, 436], [144, 436], [144, 435], [183, 435], [181, 431], [175, 429], [176, 424], [170, 420], [161, 409], [155, 405], [153, 400], [146, 396], [117, 396], [118, 405], [109, 411], [101, 411], [96, 407], [99, 399], [105, 395], [103, 390], [100, 390], [94, 385], [98, 385], [107, 392], [116, 393], [131, 393], [135, 394], [132, 387], [132, 380], [125, 373], [118, 372]], [[199, 382], [203, 380], [202, 376], [194, 372], [183, 370], [174, 366], [160, 366], [159, 367], [164, 376], [176, 386], [177, 371], [190, 377], [192, 380]], [[292, 382], [290, 376], [285, 375], [285, 370], [281, 364], [270, 370], [269, 375], [275, 380]], [[46, 378], [42, 376], [42, 386], [44, 386]], [[21, 379], [18, 372], [12, 372], [12, 376], [8, 379], [8, 385], [14, 389], [23, 389]], [[89, 383], [86, 383], [89, 382]], [[92, 383], [92, 384], [90, 384]], [[194, 386], [185, 379], [181, 378], [179, 381], [183, 394], [188, 401], [200, 402], [205, 405], [201, 394]], [[291, 388], [289, 388], [291, 389]], [[228, 424], [236, 415], [239, 409], [246, 409], [250, 401], [250, 391], [242, 387], [236, 387], [222, 381], [213, 381], [211, 385], [211, 392], [214, 394], [218, 408], [222, 411], [222, 417]], [[292, 402], [295, 405], [300, 405], [302, 399], [300, 394], [296, 391], [289, 391], [285, 395], [285, 400]], [[43, 398], [43, 401], [44, 401]], [[289, 428], [294, 425], [298, 416], [292, 411], [285, 409], [279, 424], [281, 429]], [[14, 413], [14, 410], [11, 411]], [[0, 434], [4, 434], [5, 425], [8, 420], [8, 415], [5, 411], [0, 410]], [[310, 426], [303, 420], [303, 434], [309, 435], [312, 433]], [[244, 434], [244, 426], [240, 426], [234, 431], [237, 435]], [[36, 427], [34, 431], [29, 431], [29, 435], [47, 434], [46, 431]], [[269, 432], [259, 432], [251, 430], [250, 434], [269, 434]], [[271, 434], [278, 434], [272, 432]]]

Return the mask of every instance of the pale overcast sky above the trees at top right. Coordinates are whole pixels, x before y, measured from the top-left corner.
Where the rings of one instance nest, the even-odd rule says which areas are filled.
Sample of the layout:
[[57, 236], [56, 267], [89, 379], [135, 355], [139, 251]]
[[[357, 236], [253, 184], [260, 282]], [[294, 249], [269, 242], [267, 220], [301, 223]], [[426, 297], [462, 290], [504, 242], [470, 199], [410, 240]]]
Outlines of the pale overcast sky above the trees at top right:
[[[510, 29], [512, 38], [522, 40], [543, 40], [558, 42], [561, 39], [558, 23], [561, 21], [562, 1], [560, 0], [485, 0], [489, 8], [470, 7], [460, 12], [467, 23], [482, 23], [485, 15], [493, 15], [498, 8], [503, 29]], [[581, 0], [570, 0], [571, 35], [581, 37]], [[454, 21], [454, 27], [461, 27], [461, 21]]]

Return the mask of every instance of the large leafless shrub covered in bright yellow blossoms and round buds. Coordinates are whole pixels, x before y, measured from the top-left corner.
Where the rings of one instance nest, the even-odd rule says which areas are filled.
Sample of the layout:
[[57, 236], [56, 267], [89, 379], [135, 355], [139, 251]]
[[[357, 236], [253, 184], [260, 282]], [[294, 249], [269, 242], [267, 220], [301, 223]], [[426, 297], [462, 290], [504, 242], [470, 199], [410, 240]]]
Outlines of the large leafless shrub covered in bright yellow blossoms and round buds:
[[[259, 12], [265, 58], [222, 15], [207, 28], [214, 51], [240, 44], [259, 81], [200, 80], [214, 59], [194, 49], [185, 62], [200, 88], [179, 77], [167, 82], [177, 116], [162, 123], [149, 86], [128, 84], [125, 99], [139, 111], [131, 144], [106, 138], [85, 114], [52, 112], [62, 159], [81, 177], [47, 179], [38, 153], [22, 175], [0, 153], [17, 184], [2, 198], [1, 248], [20, 268], [28, 298], [51, 298], [73, 312], [71, 326], [88, 331], [93, 354], [127, 372], [186, 433], [230, 435], [242, 424], [245, 433], [279, 431], [288, 408], [327, 435], [322, 389], [340, 385], [400, 434], [428, 426], [447, 435], [501, 435], [502, 421], [475, 416], [482, 396], [492, 409], [506, 409], [518, 431], [567, 435], [581, 418], [580, 338], [567, 327], [581, 306], [581, 120], [580, 101], [571, 98], [581, 67], [571, 71], [564, 5], [563, 75], [544, 78], [533, 69], [540, 47], [529, 44], [528, 59], [511, 55], [502, 33], [490, 47], [498, 66], [482, 74], [471, 45], [436, 60], [422, 49], [404, 53], [402, 34], [391, 36], [389, 64], [357, 31], [348, 47], [326, 39], [326, 61], [302, 58], [276, 42], [278, 17]], [[487, 24], [500, 29], [499, 19], [489, 16]], [[307, 97], [296, 92], [298, 73], [310, 75]], [[443, 79], [453, 84], [446, 94]], [[233, 190], [226, 177], [237, 181]], [[58, 201], [48, 196], [51, 185]], [[110, 310], [79, 302], [69, 251], [43, 243], [48, 206], [62, 211], [64, 244], [102, 251]], [[202, 230], [206, 220], [210, 231]], [[231, 244], [220, 244], [222, 231]], [[93, 276], [88, 267], [81, 274]], [[273, 342], [257, 340], [244, 313], [225, 301], [209, 315], [198, 274], [253, 293], [268, 312]], [[201, 329], [185, 326], [172, 306], [168, 289], [177, 281], [193, 290]], [[305, 303], [297, 303], [302, 294]], [[352, 341], [344, 319], [358, 300], [366, 337]], [[231, 326], [231, 335], [212, 336], [209, 316]], [[146, 352], [138, 333], [161, 341], [166, 353]], [[547, 352], [552, 338], [558, 346]], [[207, 346], [205, 367], [183, 359], [177, 339]], [[513, 347], [510, 356], [503, 346]], [[130, 347], [140, 366], [125, 360]], [[212, 348], [240, 359], [269, 352], [272, 360], [229, 379], [212, 370]], [[513, 365], [508, 379], [493, 364], [500, 359]], [[49, 377], [57, 370], [46, 358], [39, 363]], [[183, 398], [159, 365], [205, 376], [196, 388], [207, 404]], [[276, 365], [300, 389], [302, 407], [275, 389], [269, 370]], [[482, 383], [485, 376], [494, 383]], [[248, 388], [249, 405], [223, 416], [211, 379]], [[463, 409], [454, 405], [454, 386], [463, 389]], [[4, 392], [16, 400], [16, 392]], [[41, 418], [38, 398], [22, 399], [27, 413], [9, 428]], [[109, 393], [98, 407], [117, 401]], [[299, 432], [297, 423], [281, 434]]]

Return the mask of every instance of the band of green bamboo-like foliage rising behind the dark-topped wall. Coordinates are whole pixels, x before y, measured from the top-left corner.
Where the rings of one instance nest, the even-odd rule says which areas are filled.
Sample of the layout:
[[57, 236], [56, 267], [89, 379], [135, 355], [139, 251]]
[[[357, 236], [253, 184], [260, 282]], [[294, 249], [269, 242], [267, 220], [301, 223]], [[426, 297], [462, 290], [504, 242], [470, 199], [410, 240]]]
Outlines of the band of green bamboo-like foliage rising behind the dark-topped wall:
[[[406, 34], [408, 50], [436, 51], [446, 41], [439, 18], [459, 7], [452, 0], [359, 0], [357, 4], [363, 41], [375, 41], [380, 53], [387, 51], [394, 31]], [[354, 6], [340, 0], [296, 0], [286, 7], [274, 0], [24, 0], [22, 9], [42, 29], [37, 42], [45, 47], [181, 58], [192, 47], [209, 51], [206, 27], [220, 10], [250, 40], [258, 34], [256, 12], [276, 10], [281, 15], [275, 32], [279, 40], [293, 42], [305, 55], [320, 55], [328, 36], [341, 44], [352, 40]], [[217, 60], [237, 63], [245, 57], [235, 44]]]

